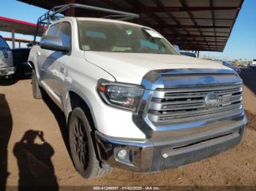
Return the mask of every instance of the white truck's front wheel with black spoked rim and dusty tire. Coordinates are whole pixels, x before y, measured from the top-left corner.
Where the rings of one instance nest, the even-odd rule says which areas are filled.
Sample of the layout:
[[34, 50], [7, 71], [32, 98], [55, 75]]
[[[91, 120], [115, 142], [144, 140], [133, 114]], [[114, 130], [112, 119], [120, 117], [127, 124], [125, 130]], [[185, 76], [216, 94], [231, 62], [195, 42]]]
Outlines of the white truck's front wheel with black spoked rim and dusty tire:
[[105, 168], [99, 166], [91, 139], [91, 125], [83, 111], [86, 110], [77, 107], [69, 118], [69, 147], [78, 173], [85, 179], [94, 179], [108, 174], [111, 168], [109, 165]]

